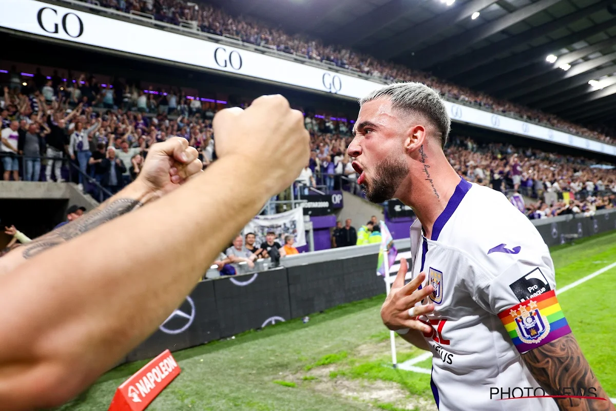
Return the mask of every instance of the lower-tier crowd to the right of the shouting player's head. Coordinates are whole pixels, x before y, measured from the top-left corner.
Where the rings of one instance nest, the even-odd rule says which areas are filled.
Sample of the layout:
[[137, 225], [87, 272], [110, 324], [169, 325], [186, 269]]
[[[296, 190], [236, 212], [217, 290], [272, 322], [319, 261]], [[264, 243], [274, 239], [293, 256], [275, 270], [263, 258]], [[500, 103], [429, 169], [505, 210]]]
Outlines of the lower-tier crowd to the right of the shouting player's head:
[[[477, 145], [460, 137], [454, 137], [445, 153], [458, 174], [512, 194], [516, 197], [512, 203], [531, 219], [578, 213], [590, 216], [596, 210], [616, 207], [616, 170], [597, 167], [587, 158], [505, 144]], [[519, 200], [520, 194], [538, 201], [526, 205], [523, 198]]]

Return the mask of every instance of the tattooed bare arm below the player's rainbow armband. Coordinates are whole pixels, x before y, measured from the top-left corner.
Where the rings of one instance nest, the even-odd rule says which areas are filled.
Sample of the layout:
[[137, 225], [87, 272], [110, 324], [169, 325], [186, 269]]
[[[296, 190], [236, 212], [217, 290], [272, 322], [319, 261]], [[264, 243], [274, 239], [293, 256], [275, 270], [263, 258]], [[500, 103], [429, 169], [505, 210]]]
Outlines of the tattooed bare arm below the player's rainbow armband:
[[556, 398], [560, 410], [614, 410], [572, 334], [522, 354], [522, 358], [547, 394], [593, 397]]

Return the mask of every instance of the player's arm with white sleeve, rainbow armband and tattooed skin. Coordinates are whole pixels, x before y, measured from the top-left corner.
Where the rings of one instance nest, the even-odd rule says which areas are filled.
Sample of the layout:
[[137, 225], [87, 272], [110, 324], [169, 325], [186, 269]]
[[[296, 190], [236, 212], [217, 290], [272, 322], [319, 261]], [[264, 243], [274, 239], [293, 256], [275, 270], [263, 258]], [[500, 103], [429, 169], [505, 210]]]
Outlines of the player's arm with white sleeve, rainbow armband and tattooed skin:
[[479, 282], [473, 283], [477, 303], [498, 315], [545, 395], [567, 396], [554, 398], [559, 409], [614, 410], [562, 312], [547, 246], [536, 242], [513, 249], [501, 246], [490, 250], [484, 261], [491, 270], [478, 272]]

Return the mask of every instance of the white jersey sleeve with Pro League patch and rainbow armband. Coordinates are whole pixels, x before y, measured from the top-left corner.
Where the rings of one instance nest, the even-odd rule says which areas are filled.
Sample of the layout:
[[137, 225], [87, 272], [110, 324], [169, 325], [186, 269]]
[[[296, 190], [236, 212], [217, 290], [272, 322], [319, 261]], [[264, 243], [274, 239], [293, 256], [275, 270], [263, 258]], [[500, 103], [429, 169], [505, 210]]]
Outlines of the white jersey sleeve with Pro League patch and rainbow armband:
[[532, 223], [512, 213], [500, 219], [498, 230], [483, 234], [476, 243], [482, 252], [472, 254], [476, 273], [468, 277], [474, 301], [498, 315], [521, 353], [569, 334], [548, 246]]

